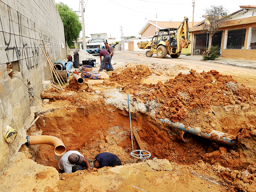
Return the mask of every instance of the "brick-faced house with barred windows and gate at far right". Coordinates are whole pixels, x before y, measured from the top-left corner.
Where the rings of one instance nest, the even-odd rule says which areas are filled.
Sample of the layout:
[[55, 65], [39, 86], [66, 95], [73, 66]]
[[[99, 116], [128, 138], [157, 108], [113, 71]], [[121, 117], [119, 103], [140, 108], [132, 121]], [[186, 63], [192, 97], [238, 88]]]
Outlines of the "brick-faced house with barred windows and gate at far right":
[[[230, 16], [212, 37], [212, 46], [219, 46], [223, 58], [256, 60], [256, 5], [241, 5]], [[193, 55], [201, 55], [208, 47], [209, 34], [202, 31], [204, 22], [189, 28]]]

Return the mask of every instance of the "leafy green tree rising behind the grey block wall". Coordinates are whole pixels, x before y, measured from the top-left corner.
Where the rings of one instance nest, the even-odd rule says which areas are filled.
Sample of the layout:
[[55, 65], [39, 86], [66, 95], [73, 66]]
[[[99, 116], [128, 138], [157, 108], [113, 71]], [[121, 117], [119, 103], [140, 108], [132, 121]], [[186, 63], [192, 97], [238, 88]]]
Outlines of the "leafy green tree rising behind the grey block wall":
[[66, 44], [68, 44], [69, 47], [74, 46], [73, 41], [77, 42], [77, 38], [82, 30], [82, 24], [79, 22], [76, 13], [73, 12], [68, 5], [60, 2], [56, 4], [56, 7], [60, 13], [60, 18], [64, 25]]

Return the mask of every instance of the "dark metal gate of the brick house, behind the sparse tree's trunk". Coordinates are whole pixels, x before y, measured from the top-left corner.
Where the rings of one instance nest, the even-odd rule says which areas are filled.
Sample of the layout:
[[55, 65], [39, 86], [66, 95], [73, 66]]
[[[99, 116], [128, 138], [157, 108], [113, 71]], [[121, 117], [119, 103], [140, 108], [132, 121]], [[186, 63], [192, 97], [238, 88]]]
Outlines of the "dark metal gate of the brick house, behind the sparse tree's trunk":
[[[208, 48], [208, 42], [209, 42], [208, 33], [195, 34], [193, 55], [202, 55], [204, 50]], [[222, 31], [216, 32], [212, 36], [212, 46], [218, 46], [218, 48], [221, 49], [221, 43], [222, 43]]]

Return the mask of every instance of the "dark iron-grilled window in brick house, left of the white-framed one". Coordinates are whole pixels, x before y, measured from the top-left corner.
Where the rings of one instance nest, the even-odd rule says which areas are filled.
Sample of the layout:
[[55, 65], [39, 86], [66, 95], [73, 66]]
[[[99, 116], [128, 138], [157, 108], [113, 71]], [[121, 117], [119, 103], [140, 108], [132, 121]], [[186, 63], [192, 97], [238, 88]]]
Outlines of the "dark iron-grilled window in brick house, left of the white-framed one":
[[244, 48], [246, 29], [228, 31], [227, 49]]

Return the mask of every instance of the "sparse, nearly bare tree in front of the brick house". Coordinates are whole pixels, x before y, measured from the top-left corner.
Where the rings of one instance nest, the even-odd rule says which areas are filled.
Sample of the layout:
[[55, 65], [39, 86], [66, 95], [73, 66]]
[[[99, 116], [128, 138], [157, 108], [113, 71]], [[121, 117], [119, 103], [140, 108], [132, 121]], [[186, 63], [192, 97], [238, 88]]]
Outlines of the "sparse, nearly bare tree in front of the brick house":
[[218, 31], [222, 23], [230, 18], [228, 11], [222, 5], [211, 5], [211, 8], [205, 8], [205, 22], [202, 31], [209, 33], [208, 49], [212, 46], [212, 36]]

